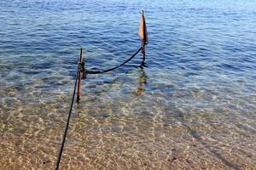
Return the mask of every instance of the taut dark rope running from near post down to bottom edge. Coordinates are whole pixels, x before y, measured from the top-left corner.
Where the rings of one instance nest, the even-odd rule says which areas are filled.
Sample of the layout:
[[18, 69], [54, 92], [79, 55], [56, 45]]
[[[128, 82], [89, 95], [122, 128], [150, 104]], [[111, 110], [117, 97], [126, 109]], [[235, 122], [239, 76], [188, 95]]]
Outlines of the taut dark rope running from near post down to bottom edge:
[[75, 82], [75, 85], [74, 85], [74, 88], [73, 88], [73, 97], [72, 97], [72, 102], [71, 102], [71, 105], [70, 105], [69, 113], [68, 113], [68, 116], [67, 116], [67, 123], [66, 123], [65, 131], [64, 131], [64, 134], [63, 134], [63, 137], [62, 137], [61, 150], [59, 152], [59, 156], [58, 156], [58, 160], [56, 162], [55, 170], [58, 170], [59, 166], [60, 166], [61, 156], [62, 156], [62, 152], [64, 150], [64, 145], [65, 145], [65, 141], [66, 141], [66, 137], [67, 137], [67, 129], [68, 129], [68, 125], [69, 125], [69, 121], [70, 121], [70, 117], [71, 117], [71, 113], [72, 113], [72, 108], [73, 108], [73, 102], [74, 102], [74, 98], [75, 98], [75, 94], [76, 94], [78, 78], [79, 78], [79, 67], [78, 67], [78, 71], [77, 71], [76, 82]]

